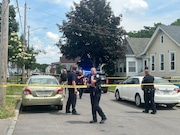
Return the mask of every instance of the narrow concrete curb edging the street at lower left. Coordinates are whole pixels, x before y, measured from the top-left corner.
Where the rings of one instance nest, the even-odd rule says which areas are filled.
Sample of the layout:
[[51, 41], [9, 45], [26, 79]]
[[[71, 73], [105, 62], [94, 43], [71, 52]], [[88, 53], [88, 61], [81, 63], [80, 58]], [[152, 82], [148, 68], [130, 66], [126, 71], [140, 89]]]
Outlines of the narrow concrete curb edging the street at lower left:
[[16, 126], [18, 116], [19, 116], [19, 110], [20, 110], [20, 107], [21, 107], [21, 102], [22, 102], [22, 100], [20, 99], [20, 101], [18, 102], [18, 104], [16, 106], [16, 109], [15, 109], [15, 116], [14, 116], [12, 122], [11, 122], [11, 125], [8, 128], [7, 135], [12, 135], [13, 132], [14, 132], [14, 128]]

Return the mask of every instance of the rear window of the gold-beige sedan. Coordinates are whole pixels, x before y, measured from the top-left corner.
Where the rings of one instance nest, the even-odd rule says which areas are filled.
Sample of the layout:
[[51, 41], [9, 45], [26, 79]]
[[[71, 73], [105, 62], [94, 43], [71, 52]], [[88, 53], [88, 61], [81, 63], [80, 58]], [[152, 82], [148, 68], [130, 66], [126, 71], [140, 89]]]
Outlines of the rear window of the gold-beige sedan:
[[31, 78], [29, 84], [52, 84], [57, 85], [57, 81], [53, 78]]

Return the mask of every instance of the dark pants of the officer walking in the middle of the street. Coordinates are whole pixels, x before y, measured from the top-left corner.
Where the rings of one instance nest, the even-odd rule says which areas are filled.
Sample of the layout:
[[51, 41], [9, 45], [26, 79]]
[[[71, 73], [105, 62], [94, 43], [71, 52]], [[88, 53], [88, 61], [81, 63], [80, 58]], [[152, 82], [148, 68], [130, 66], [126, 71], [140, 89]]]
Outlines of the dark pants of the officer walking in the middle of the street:
[[101, 93], [93, 93], [93, 92], [90, 93], [92, 116], [94, 121], [97, 121], [97, 112], [101, 116], [101, 119], [106, 119], [104, 112], [99, 106], [100, 98], [101, 98]]

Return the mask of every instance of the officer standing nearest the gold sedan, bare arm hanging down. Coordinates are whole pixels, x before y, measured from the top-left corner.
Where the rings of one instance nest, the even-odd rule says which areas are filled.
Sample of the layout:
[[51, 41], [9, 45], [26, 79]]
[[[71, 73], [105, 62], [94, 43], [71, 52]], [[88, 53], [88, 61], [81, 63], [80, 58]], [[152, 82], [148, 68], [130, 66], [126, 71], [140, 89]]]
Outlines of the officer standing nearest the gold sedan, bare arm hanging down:
[[71, 113], [70, 111], [70, 106], [72, 105], [72, 114], [73, 115], [79, 115], [79, 113], [76, 112], [76, 100], [77, 100], [77, 75], [76, 75], [76, 70], [77, 66], [72, 65], [71, 70], [68, 73], [68, 85], [72, 85], [74, 88], [68, 88], [69, 90], [69, 95], [68, 95], [68, 100], [66, 103], [66, 113]]

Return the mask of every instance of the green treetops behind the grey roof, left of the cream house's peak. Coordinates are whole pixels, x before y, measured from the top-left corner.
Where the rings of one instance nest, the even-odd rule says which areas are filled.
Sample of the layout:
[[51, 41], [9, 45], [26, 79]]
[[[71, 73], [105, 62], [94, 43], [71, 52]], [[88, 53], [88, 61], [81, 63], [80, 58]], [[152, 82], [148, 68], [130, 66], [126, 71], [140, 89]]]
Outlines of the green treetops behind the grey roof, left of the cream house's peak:
[[156, 28], [161, 25], [161, 23], [155, 23], [153, 27], [144, 26], [143, 30], [140, 31], [130, 31], [128, 33], [129, 37], [136, 37], [136, 38], [151, 38]]

